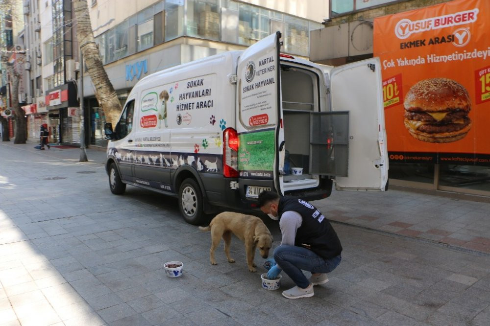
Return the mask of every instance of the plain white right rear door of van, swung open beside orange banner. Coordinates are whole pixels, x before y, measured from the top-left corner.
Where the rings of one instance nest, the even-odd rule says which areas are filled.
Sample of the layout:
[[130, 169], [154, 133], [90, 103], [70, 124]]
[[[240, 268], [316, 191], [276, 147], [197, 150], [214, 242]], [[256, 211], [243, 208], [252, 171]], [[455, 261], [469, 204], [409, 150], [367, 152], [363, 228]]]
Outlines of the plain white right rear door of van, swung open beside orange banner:
[[[348, 111], [348, 163], [346, 175], [336, 177], [338, 190], [386, 190], [388, 185], [388, 152], [379, 58], [363, 60], [334, 68], [330, 72], [332, 113]], [[339, 117], [342, 119], [342, 117]], [[345, 159], [335, 152], [333, 160]], [[342, 148], [343, 147], [343, 148]], [[345, 149], [340, 145], [339, 149]], [[342, 153], [342, 150], [339, 151]], [[339, 166], [340, 162], [335, 165]]]

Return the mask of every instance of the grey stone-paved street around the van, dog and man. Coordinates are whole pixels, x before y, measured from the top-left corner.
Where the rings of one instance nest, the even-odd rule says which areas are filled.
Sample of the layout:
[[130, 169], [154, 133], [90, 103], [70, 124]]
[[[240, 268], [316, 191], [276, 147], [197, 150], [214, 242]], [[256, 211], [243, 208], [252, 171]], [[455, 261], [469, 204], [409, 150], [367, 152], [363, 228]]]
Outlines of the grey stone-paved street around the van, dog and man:
[[[87, 149], [89, 162], [78, 163], [79, 149], [34, 145], [0, 142], [0, 326], [490, 320], [490, 256], [468, 245], [485, 245], [490, 204], [400, 190], [333, 192], [315, 205], [339, 221], [343, 261], [313, 298], [288, 300], [281, 291], [291, 279], [283, 276], [280, 291], [262, 289], [263, 259], [256, 255], [259, 272], [249, 273], [234, 237], [237, 262], [226, 261], [221, 244], [219, 264], [210, 265], [209, 233], [183, 222], [175, 199], [130, 186], [113, 195], [104, 151]], [[277, 246], [277, 223], [265, 222]], [[181, 278], [165, 276], [170, 260], [184, 262]]]

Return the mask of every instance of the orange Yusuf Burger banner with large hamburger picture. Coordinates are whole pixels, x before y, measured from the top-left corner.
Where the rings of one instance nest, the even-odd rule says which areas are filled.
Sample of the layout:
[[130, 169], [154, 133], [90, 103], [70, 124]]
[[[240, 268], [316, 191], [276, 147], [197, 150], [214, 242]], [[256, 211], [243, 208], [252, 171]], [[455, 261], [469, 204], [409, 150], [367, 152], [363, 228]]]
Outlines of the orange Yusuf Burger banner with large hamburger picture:
[[393, 163], [490, 163], [490, 1], [374, 20]]

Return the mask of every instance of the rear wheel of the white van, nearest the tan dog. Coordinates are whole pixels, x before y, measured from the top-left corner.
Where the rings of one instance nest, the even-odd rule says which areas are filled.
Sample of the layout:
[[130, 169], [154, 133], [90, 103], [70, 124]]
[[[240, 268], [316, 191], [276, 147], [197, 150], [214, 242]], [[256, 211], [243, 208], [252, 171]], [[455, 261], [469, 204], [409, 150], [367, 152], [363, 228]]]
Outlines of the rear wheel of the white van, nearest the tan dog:
[[179, 209], [184, 220], [193, 225], [202, 221], [202, 193], [194, 179], [185, 179], [179, 188]]

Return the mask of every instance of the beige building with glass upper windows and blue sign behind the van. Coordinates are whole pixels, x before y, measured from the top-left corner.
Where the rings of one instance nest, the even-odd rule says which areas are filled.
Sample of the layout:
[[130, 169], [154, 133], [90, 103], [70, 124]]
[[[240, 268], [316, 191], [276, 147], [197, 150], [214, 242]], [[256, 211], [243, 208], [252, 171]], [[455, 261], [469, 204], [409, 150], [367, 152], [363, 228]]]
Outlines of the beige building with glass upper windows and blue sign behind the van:
[[[118, 6], [117, 0], [98, 0], [89, 4], [105, 69], [124, 102], [138, 80], [150, 73], [223, 51], [245, 49], [277, 30], [283, 35], [284, 52], [308, 57], [309, 32], [321, 27], [327, 4], [316, 0], [307, 1], [308, 5], [286, 2], [142, 0]], [[83, 79], [83, 86], [90, 136], [87, 142], [105, 146], [104, 114], [90, 78]]]

